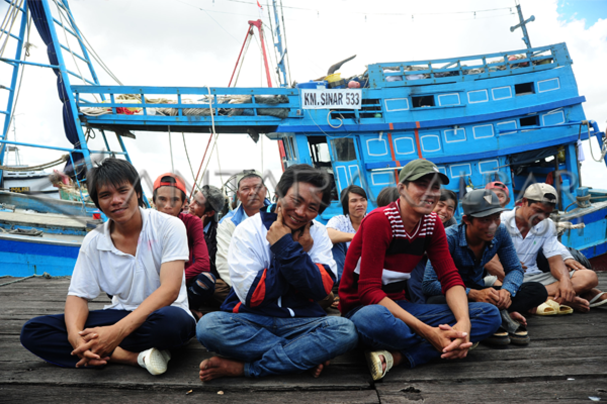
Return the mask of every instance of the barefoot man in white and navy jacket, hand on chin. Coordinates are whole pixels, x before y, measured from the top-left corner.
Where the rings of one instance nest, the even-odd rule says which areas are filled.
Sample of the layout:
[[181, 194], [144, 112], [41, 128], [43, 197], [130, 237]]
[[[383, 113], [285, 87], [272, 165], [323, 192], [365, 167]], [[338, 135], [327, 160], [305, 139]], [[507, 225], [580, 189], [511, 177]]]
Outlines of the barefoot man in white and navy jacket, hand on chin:
[[200, 363], [203, 382], [306, 369], [319, 376], [328, 360], [356, 345], [353, 323], [327, 317], [317, 303], [331, 293], [337, 276], [327, 230], [313, 221], [330, 202], [328, 176], [293, 165], [276, 193], [276, 204], [234, 230], [228, 251], [232, 290], [223, 311], [198, 322], [198, 340], [220, 355]]

